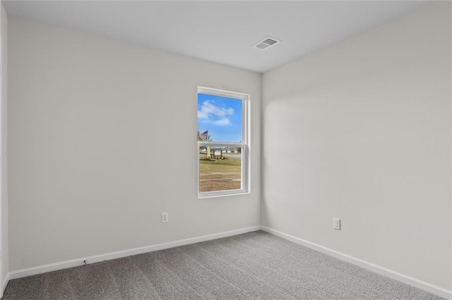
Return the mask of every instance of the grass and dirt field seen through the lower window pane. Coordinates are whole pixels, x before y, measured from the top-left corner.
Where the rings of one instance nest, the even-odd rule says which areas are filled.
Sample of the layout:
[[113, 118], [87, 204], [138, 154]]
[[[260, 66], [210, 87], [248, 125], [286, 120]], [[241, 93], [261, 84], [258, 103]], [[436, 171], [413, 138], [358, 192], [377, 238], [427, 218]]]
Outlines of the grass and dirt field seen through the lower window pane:
[[242, 188], [242, 157], [225, 154], [225, 159], [199, 159], [199, 192], [218, 192]]

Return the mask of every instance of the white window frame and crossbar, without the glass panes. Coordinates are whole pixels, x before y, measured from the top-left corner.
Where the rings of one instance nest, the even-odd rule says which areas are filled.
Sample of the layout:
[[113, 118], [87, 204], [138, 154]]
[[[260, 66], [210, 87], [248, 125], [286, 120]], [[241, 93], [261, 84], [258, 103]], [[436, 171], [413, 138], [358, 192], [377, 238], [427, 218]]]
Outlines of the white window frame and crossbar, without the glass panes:
[[[237, 194], [249, 194], [249, 103], [251, 96], [239, 92], [225, 91], [222, 89], [212, 89], [210, 87], [198, 87], [196, 94], [196, 101], [198, 101], [198, 94], [208, 94], [213, 96], [222, 96], [227, 98], [239, 99], [242, 101], [242, 142], [241, 143], [227, 143], [227, 142], [204, 142], [198, 141], [197, 144], [197, 158], [198, 158], [198, 198], [210, 198], [217, 196], [230, 196]], [[196, 117], [196, 120], [198, 118]], [[200, 192], [199, 190], [199, 147], [200, 146], [222, 146], [222, 147], [237, 147], [242, 148], [242, 185], [240, 189], [227, 189], [215, 192]]]

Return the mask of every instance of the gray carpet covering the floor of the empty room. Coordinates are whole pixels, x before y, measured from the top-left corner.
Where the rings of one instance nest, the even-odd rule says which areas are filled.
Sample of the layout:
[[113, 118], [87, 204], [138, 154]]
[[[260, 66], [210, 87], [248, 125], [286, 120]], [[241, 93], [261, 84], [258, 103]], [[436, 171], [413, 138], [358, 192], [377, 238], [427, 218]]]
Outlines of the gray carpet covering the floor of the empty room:
[[441, 299], [266, 232], [11, 280], [2, 299]]

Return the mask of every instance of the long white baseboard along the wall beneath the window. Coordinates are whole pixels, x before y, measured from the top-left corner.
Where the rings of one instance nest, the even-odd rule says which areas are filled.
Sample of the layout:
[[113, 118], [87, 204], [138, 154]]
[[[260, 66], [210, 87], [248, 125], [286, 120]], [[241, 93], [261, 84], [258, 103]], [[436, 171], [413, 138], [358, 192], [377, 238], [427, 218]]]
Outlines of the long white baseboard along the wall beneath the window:
[[[213, 235], [203, 235], [201, 237], [192, 237], [190, 239], [179, 239], [178, 241], [174, 241], [174, 242], [167, 242], [167, 243], [155, 244], [155, 245], [151, 245], [151, 246], [144, 246], [144, 247], [124, 250], [124, 251], [117, 251], [117, 252], [112, 252], [109, 254], [101, 254], [101, 255], [96, 255], [96, 256], [88, 256], [88, 257], [83, 257], [83, 258], [71, 259], [70, 261], [61, 261], [59, 263], [49, 263], [48, 265], [38, 265], [37, 267], [10, 272], [10, 273], [8, 273], [8, 279], [13, 280], [13, 279], [20, 278], [20, 277], [37, 275], [37, 274], [41, 274], [41, 273], [47, 273], [47, 272], [52, 272], [52, 271], [56, 271], [56, 270], [77, 267], [79, 265], [83, 265], [84, 264], [83, 261], [86, 261], [86, 263], [98, 263], [100, 261], [109, 261], [109, 260], [115, 259], [115, 258], [121, 258], [121, 257], [136, 255], [136, 254], [143, 254], [146, 252], [168, 249], [168, 248], [173, 248], [173, 247], [177, 247], [177, 246], [194, 244], [194, 243], [198, 243], [198, 242], [205, 242], [205, 241], [209, 241], [211, 239], [220, 239], [222, 237], [230, 237], [232, 235], [240, 235], [242, 233], [252, 232], [252, 231], [256, 231], [256, 230], [260, 230], [260, 229], [261, 229], [261, 226], [258, 225], [258, 226], [246, 227], [246, 228], [242, 228], [242, 229], [238, 229], [238, 230], [219, 232], [219, 233], [215, 233]], [[4, 283], [4, 287], [6, 287], [5, 283]]]

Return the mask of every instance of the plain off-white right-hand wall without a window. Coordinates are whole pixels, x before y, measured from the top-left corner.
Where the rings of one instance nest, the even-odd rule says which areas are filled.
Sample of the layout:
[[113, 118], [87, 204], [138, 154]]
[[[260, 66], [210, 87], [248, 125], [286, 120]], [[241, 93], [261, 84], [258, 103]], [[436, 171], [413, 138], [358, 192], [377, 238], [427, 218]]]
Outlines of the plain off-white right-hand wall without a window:
[[451, 289], [451, 4], [271, 70], [262, 87], [263, 225]]

